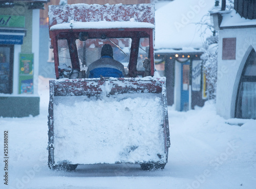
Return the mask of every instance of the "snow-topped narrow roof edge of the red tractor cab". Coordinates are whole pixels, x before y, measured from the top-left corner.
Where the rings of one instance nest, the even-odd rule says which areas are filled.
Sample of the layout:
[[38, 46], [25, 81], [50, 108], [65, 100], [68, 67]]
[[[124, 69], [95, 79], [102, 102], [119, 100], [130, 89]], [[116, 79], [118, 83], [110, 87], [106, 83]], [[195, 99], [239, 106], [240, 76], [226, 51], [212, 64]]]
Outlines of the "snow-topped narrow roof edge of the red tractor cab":
[[50, 30], [59, 29], [112, 29], [112, 28], [151, 28], [154, 29], [155, 25], [147, 22], [131, 21], [91, 21], [79, 22], [71, 20], [70, 23], [60, 23], [54, 25]]

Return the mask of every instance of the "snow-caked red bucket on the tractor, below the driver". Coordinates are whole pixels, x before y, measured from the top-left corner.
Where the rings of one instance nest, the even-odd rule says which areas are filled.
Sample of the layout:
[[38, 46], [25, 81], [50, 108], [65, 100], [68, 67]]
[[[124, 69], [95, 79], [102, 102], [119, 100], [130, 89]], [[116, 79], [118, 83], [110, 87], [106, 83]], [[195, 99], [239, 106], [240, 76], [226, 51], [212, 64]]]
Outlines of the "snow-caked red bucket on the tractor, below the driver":
[[48, 126], [52, 166], [165, 164], [165, 78], [50, 80]]

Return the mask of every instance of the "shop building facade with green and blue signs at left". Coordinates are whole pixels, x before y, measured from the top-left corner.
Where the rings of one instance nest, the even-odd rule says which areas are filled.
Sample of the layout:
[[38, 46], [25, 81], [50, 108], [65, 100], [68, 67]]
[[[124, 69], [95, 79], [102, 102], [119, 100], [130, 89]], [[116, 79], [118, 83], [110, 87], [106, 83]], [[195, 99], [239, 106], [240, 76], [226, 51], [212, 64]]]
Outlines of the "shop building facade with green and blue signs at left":
[[47, 1], [0, 1], [0, 116], [39, 114], [39, 9]]

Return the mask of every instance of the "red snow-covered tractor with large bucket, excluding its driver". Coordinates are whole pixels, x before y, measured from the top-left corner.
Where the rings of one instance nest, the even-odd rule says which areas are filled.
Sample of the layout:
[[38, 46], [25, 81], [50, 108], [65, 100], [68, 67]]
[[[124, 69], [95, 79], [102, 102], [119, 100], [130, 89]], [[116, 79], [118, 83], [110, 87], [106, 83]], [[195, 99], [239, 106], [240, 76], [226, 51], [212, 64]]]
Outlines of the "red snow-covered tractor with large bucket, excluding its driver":
[[[163, 169], [170, 147], [165, 78], [154, 76], [152, 4], [49, 6], [48, 166], [139, 163]], [[104, 44], [125, 77], [87, 78]]]

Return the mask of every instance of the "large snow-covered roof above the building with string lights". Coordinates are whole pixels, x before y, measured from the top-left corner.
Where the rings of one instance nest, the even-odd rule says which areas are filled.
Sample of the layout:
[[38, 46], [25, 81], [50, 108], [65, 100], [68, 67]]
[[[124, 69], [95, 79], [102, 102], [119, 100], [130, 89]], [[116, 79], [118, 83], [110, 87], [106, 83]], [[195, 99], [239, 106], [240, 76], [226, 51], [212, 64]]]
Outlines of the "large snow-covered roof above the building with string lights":
[[[196, 25], [215, 5], [215, 0], [176, 0], [159, 8], [156, 18], [155, 49], [202, 48], [203, 41]], [[210, 17], [209, 17], [210, 20]], [[204, 37], [212, 35], [206, 30]]]

